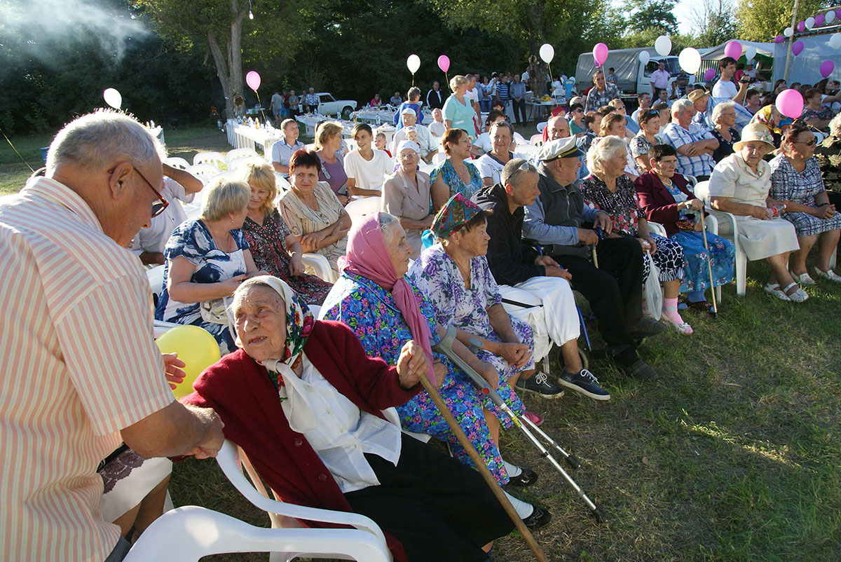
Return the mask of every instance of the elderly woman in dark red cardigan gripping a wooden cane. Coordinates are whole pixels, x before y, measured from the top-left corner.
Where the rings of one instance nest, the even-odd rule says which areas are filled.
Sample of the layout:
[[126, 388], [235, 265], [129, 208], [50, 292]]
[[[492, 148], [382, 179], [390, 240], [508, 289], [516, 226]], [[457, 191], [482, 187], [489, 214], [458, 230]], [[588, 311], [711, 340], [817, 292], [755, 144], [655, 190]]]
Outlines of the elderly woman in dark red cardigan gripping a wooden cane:
[[270, 276], [242, 284], [231, 308], [241, 349], [207, 368], [185, 401], [219, 414], [283, 501], [370, 517], [398, 562], [488, 559], [511, 529], [492, 490], [389, 422], [429, 368], [417, 342], [389, 367]]

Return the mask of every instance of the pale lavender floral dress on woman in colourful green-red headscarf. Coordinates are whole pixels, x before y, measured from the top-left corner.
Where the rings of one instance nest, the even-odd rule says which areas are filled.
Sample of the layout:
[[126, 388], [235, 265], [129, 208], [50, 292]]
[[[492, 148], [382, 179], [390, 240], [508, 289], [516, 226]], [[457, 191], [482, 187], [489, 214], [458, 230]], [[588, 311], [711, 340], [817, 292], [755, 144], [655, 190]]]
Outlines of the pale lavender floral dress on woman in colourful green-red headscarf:
[[[426, 300], [432, 305], [436, 321], [440, 326], [456, 326], [479, 337], [495, 342], [500, 338], [490, 325], [488, 307], [502, 304], [500, 288], [488, 267], [488, 258], [474, 257], [470, 260], [470, 289], [464, 283], [456, 262], [444, 251], [440, 243], [421, 252], [421, 256], [412, 264], [409, 277], [415, 286], [426, 294]], [[520, 369], [514, 368], [504, 358], [484, 349], [477, 357], [494, 366], [500, 374], [500, 396], [509, 405], [521, 407], [521, 400], [505, 381], [518, 371], [534, 368], [534, 339], [532, 328], [513, 316], [509, 316], [511, 327], [522, 343], [528, 345], [532, 358]], [[512, 407], [513, 410], [517, 408]]]

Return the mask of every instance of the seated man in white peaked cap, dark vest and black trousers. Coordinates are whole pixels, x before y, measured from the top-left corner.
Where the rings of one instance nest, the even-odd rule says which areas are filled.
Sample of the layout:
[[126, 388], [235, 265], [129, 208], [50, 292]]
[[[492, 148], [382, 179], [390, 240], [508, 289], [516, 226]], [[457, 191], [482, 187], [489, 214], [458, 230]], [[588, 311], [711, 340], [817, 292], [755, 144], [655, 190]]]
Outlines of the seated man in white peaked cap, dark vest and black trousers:
[[[614, 361], [630, 376], [655, 379], [657, 374], [639, 358], [634, 344], [635, 338], [653, 336], [665, 328], [643, 317], [643, 251], [639, 243], [629, 236], [608, 236], [610, 216], [584, 204], [576, 182], [583, 152], [575, 146], [574, 137], [548, 142], [537, 155], [540, 196], [526, 206], [523, 234], [541, 244], [544, 255], [572, 274], [573, 288], [590, 302], [601, 337], [616, 352]], [[590, 262], [594, 247], [598, 268]], [[586, 390], [592, 384], [588, 379], [586, 374], [565, 369], [558, 382]]]

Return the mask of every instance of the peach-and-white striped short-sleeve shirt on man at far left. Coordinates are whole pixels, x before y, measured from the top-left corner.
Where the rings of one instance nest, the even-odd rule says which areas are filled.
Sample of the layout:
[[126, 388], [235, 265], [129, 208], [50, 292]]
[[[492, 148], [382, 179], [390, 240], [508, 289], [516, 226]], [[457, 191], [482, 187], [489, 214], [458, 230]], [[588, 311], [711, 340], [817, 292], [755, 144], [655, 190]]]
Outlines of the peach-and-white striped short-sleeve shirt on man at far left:
[[105, 559], [97, 465], [172, 403], [137, 257], [70, 188], [0, 198], [0, 544], [6, 560]]

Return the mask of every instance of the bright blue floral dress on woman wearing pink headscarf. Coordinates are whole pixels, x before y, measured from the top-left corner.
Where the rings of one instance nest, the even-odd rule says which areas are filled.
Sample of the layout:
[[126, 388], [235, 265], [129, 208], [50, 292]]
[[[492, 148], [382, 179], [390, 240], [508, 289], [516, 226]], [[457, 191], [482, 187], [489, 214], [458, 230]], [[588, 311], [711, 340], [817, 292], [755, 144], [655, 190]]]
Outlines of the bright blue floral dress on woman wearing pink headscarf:
[[[432, 307], [426, 302], [415, 284], [412, 284], [411, 280], [409, 283], [415, 292], [421, 312], [429, 321], [431, 343], [435, 345], [438, 341], [438, 326]], [[400, 349], [405, 342], [412, 339], [410, 328], [397, 305], [394, 304], [391, 293], [373, 281], [347, 271], [341, 273], [330, 294], [327, 295], [324, 306], [321, 308], [321, 317], [325, 320], [341, 321], [349, 326], [356, 333], [369, 356], [382, 358], [389, 365], [397, 363]], [[439, 393], [452, 411], [452, 415], [456, 417], [458, 425], [462, 427], [470, 442], [473, 443], [473, 447], [488, 465], [491, 474], [500, 485], [507, 484], [508, 474], [505, 472], [505, 465], [502, 464], [499, 448], [490, 436], [482, 407], [494, 412], [500, 422], [505, 419], [505, 414], [500, 412], [489, 398], [479, 395], [467, 375], [454, 368], [445, 356], [435, 353], [435, 358], [447, 366], [447, 375], [438, 389]], [[506, 398], [505, 395], [503, 398]], [[519, 400], [517, 402], [519, 402], [520, 410], [515, 411], [521, 414], [522, 402]], [[512, 404], [512, 406], [515, 405]], [[446, 441], [459, 461], [468, 466], [474, 466], [468, 453], [458, 443], [455, 434], [447, 426], [441, 412], [426, 392], [421, 392], [403, 406], [399, 406], [397, 413], [404, 429], [410, 432], [428, 433]], [[505, 427], [510, 427], [510, 421]]]

